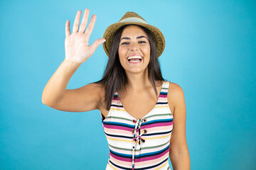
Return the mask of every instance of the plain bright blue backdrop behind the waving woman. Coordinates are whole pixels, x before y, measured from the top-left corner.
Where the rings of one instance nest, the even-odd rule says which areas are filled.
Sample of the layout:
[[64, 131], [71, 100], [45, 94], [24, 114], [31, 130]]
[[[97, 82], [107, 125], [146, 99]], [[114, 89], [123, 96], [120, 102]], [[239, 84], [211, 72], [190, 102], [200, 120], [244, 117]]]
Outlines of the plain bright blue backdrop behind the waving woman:
[[[1, 0], [0, 169], [107, 166], [100, 111], [63, 112], [41, 102], [65, 59], [65, 21], [72, 28], [85, 8], [97, 15], [90, 44], [127, 11], [164, 33], [159, 61], [164, 78], [185, 94], [191, 169], [255, 169], [256, 1], [249, 0]], [[107, 59], [100, 45], [67, 89], [99, 80]]]

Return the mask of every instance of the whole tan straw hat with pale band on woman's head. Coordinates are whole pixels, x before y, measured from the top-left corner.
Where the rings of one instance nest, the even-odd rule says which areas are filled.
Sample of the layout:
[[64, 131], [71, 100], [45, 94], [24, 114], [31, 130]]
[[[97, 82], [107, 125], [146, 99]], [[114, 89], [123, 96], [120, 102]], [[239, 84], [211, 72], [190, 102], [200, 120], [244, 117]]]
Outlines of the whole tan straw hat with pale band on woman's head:
[[110, 47], [112, 45], [112, 41], [114, 39], [114, 34], [116, 33], [116, 31], [122, 26], [129, 25], [129, 24], [143, 26], [144, 28], [147, 28], [152, 33], [152, 35], [154, 36], [154, 41], [156, 43], [157, 57], [160, 57], [161, 53], [164, 52], [164, 46], [165, 46], [163, 33], [161, 33], [159, 28], [156, 28], [146, 23], [144, 18], [142, 18], [141, 16], [139, 16], [137, 13], [134, 13], [134, 12], [125, 13], [124, 16], [118, 21], [118, 23], [113, 23], [112, 25], [107, 27], [107, 30], [105, 30], [103, 38], [105, 38], [106, 41], [103, 42], [102, 45], [107, 56], [110, 57]]

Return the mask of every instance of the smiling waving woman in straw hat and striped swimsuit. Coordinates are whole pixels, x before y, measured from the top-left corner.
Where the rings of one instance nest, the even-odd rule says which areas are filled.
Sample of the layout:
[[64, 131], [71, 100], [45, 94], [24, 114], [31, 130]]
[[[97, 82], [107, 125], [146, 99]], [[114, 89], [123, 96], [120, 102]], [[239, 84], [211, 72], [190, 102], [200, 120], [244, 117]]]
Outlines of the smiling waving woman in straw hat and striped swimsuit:
[[[60, 111], [100, 110], [110, 146], [106, 169], [190, 169], [186, 106], [178, 84], [161, 76], [158, 57], [164, 35], [137, 13], [128, 12], [89, 46], [96, 16], [78, 11], [70, 34], [65, 26], [65, 60], [43, 90], [42, 102]], [[100, 81], [66, 89], [68, 81], [103, 43], [110, 57]]]

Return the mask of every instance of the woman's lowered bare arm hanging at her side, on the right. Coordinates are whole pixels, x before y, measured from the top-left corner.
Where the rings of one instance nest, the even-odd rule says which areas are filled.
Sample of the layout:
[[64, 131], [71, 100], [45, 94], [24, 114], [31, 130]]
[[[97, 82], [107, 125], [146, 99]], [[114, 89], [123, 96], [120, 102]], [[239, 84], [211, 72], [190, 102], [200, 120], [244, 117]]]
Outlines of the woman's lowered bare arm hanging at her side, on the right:
[[186, 103], [183, 89], [171, 83], [169, 101], [174, 103], [174, 124], [170, 141], [169, 157], [174, 170], [190, 170], [190, 157], [186, 142]]

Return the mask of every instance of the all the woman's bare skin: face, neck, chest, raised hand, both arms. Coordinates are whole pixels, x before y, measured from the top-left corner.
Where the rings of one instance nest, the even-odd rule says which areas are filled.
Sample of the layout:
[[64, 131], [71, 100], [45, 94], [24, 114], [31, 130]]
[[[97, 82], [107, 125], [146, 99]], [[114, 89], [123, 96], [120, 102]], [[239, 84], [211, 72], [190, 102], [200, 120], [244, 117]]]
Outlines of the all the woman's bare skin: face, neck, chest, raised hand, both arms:
[[[105, 41], [104, 38], [100, 38], [89, 46], [89, 38], [95, 25], [96, 16], [92, 15], [87, 26], [89, 9], [85, 9], [79, 28], [81, 13], [82, 11], [78, 11], [75, 16], [72, 34], [70, 33], [70, 21], [66, 22], [65, 60], [43, 89], [42, 102], [59, 111], [86, 112], [97, 109], [107, 117], [109, 111], [103, 102], [105, 99], [104, 86], [86, 84], [78, 89], [67, 89], [68, 81], [80, 64], [91, 57], [98, 45]], [[85, 29], [86, 26], [87, 29]], [[126, 91], [121, 90], [120, 99], [126, 111], [134, 118], [139, 119], [149, 113], [157, 101], [153, 86], [148, 79], [147, 65], [149, 64], [150, 45], [144, 30], [137, 26], [125, 28], [121, 39], [118, 50], [119, 60], [127, 74], [128, 83]], [[142, 62], [129, 64], [127, 56], [131, 54], [141, 55]], [[159, 96], [163, 82], [156, 81], [155, 83]], [[118, 91], [118, 94], [121, 94], [121, 91]], [[167, 99], [171, 113], [174, 115], [169, 157], [174, 170], [188, 170], [190, 169], [190, 157], [186, 142], [186, 104], [181, 86], [170, 83]]]

